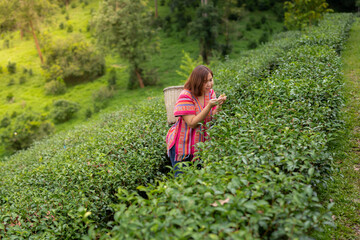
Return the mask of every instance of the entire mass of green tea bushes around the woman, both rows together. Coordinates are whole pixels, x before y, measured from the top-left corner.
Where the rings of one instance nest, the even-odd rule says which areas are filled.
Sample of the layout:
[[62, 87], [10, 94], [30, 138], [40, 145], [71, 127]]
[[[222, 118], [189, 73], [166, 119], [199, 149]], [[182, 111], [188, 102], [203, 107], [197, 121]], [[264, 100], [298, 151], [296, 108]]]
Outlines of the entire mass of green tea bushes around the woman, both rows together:
[[316, 185], [343, 127], [352, 18], [326, 15], [213, 69], [229, 101], [198, 145], [201, 170], [163, 178], [157, 99], [0, 162], [0, 238], [306, 239], [332, 224]]

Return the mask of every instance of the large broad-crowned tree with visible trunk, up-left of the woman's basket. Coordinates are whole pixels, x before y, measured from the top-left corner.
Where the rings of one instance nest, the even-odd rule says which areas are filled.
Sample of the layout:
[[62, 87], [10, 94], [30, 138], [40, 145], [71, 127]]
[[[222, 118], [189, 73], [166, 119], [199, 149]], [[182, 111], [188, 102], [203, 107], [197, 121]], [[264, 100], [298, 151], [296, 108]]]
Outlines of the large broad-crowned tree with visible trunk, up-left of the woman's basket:
[[129, 62], [129, 81], [132, 81], [132, 75], [136, 75], [141, 88], [144, 87], [142, 65], [158, 48], [151, 19], [144, 0], [103, 1], [94, 18], [99, 43], [116, 49]]

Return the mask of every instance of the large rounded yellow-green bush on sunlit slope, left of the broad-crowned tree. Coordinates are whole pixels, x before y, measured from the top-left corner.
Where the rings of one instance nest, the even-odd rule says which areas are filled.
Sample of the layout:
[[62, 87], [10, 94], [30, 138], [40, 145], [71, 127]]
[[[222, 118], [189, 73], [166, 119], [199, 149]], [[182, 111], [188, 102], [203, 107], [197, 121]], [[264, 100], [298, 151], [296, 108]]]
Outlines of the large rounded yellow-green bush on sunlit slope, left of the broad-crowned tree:
[[60, 77], [65, 83], [81, 83], [105, 72], [104, 57], [78, 34], [63, 41], [50, 42], [43, 49], [46, 55], [43, 68], [48, 81]]

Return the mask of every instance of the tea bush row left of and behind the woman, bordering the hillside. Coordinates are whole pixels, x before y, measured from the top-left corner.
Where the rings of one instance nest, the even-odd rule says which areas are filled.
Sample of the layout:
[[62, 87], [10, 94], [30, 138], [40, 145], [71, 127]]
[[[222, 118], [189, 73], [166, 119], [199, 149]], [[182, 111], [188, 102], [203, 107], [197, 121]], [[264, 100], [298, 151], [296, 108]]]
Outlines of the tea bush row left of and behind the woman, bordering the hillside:
[[118, 186], [136, 190], [163, 175], [163, 106], [124, 109], [0, 162], [0, 238], [80, 239], [80, 207], [109, 221]]

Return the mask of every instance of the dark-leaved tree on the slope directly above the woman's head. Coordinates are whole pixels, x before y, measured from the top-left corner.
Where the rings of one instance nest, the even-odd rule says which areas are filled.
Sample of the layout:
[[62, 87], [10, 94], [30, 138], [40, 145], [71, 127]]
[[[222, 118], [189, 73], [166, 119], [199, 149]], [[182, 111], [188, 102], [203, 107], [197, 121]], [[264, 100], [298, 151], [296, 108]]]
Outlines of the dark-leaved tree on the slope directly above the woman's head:
[[221, 18], [212, 3], [202, 0], [196, 19], [190, 24], [190, 34], [199, 39], [200, 54], [203, 62], [209, 64], [212, 50], [218, 47], [217, 37], [220, 31]]

